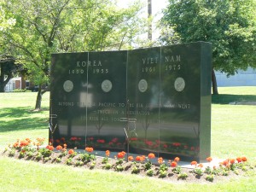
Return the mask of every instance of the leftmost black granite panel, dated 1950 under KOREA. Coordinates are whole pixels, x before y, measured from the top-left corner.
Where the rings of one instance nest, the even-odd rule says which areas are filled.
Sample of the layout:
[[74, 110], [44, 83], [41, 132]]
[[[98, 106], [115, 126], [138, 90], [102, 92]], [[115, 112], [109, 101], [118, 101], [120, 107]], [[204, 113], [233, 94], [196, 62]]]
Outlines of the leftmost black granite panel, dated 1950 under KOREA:
[[80, 93], [86, 91], [88, 53], [52, 55], [49, 138], [55, 145], [84, 146], [86, 116]]

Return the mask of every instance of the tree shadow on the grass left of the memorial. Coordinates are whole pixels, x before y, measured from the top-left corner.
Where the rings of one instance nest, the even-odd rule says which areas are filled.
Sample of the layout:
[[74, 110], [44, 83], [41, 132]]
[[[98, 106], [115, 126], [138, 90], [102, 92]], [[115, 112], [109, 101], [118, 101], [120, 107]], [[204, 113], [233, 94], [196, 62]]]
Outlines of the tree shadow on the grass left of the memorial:
[[[33, 117], [40, 113], [39, 117]], [[0, 132], [48, 129], [48, 117], [42, 111], [32, 111], [29, 108], [1, 108]]]

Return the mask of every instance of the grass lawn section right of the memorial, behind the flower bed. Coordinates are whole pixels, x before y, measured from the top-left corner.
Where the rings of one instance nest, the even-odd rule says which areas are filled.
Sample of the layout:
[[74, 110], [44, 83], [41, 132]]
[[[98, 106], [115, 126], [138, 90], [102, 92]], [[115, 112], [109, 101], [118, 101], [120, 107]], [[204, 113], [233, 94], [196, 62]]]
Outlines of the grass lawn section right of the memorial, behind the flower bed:
[[244, 154], [256, 161], [256, 105], [230, 105], [256, 102], [255, 87], [220, 87], [212, 96], [212, 156], [229, 158]]

